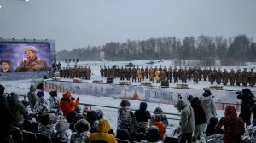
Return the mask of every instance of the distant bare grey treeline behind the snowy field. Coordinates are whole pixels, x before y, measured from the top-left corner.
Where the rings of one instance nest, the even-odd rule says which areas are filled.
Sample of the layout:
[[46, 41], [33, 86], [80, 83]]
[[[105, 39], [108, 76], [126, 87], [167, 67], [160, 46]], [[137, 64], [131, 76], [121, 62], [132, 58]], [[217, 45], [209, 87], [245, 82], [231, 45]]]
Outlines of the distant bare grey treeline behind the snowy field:
[[[57, 60], [79, 58], [92, 60], [220, 60], [223, 65], [256, 61], [256, 43], [246, 35], [224, 38], [222, 36], [158, 37], [147, 40], [110, 42], [57, 53]], [[232, 64], [232, 65], [233, 65]], [[211, 64], [210, 64], [211, 65]]]

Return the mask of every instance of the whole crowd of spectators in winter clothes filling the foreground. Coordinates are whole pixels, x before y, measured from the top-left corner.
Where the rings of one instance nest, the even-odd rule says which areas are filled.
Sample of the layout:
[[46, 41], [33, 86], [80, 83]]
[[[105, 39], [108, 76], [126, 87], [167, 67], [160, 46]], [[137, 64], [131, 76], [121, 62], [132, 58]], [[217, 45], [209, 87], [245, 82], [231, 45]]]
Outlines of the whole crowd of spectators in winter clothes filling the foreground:
[[[256, 134], [256, 108], [253, 105], [254, 95], [250, 89], [243, 89], [241, 94], [237, 95], [237, 98], [242, 100], [239, 116], [234, 106], [227, 106], [224, 117], [219, 120], [211, 90], [208, 88], [204, 89], [200, 97], [189, 95], [188, 101], [177, 100], [175, 107], [181, 112], [177, 129], [177, 133], [180, 134], [167, 137], [166, 128], [169, 123], [163, 110], [158, 106], [151, 114], [147, 110], [147, 102], [144, 101], [135, 112], [131, 110], [129, 100], [120, 102], [117, 130], [114, 134], [102, 110], [85, 108], [81, 113], [78, 110], [79, 97], [74, 99], [69, 92], [64, 93], [59, 99], [57, 92], [51, 91], [49, 100], [46, 100], [44, 92], [37, 91], [32, 85], [27, 93], [28, 101], [20, 101], [18, 94], [5, 94], [4, 89], [5, 87], [0, 84], [1, 143], [17, 142], [15, 129], [20, 130], [21, 134], [31, 132], [36, 136], [43, 135], [52, 142], [65, 143], [164, 142], [167, 137], [177, 138], [181, 143], [199, 142], [202, 137], [210, 142], [212, 140], [240, 143], [255, 140], [253, 134]], [[35, 129], [32, 129], [32, 123], [37, 124]], [[32, 139], [22, 140], [26, 142]]]

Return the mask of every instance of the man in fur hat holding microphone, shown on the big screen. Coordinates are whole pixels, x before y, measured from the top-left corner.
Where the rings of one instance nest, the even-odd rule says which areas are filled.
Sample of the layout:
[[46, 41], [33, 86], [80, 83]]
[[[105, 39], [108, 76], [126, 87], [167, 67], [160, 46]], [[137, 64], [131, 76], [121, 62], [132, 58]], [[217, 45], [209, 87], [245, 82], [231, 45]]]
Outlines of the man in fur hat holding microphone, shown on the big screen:
[[37, 51], [33, 46], [26, 46], [24, 54], [25, 57], [20, 62], [20, 66], [16, 68], [16, 72], [49, 70], [47, 63], [37, 57]]

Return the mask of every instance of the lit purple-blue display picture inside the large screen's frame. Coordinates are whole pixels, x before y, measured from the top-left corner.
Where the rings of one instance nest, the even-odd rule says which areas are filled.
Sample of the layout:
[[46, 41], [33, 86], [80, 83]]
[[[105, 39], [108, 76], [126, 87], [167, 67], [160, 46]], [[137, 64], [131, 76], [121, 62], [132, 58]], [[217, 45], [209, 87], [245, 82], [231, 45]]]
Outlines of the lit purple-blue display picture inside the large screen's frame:
[[8, 62], [11, 72], [48, 71], [51, 56], [49, 43], [0, 43], [1, 64]]

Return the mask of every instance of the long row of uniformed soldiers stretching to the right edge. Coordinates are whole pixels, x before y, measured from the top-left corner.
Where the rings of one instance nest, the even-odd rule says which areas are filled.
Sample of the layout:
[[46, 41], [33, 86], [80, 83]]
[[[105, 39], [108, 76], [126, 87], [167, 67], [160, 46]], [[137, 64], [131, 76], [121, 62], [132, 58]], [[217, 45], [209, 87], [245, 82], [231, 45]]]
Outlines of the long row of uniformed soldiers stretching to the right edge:
[[172, 66], [169, 68], [158, 68], [155, 66], [154, 68], [151, 66], [148, 68], [146, 66], [143, 68], [137, 68], [133, 67], [104, 67], [101, 68], [101, 77], [108, 77], [108, 78], [120, 78], [120, 80], [128, 80], [132, 82], [141, 82], [145, 79], [148, 79], [149, 81], [154, 83], [154, 79], [157, 83], [160, 83], [160, 81], [168, 80], [169, 83], [172, 83], [172, 78], [174, 83], [178, 83], [179, 81], [186, 83], [187, 81], [190, 81], [193, 79], [194, 83], [198, 83], [201, 80], [209, 81], [211, 84], [214, 82], [217, 84], [223, 83], [223, 85], [228, 85], [230, 83], [230, 86], [254, 86], [256, 83], [256, 74], [251, 69], [250, 72], [247, 72], [247, 68], [244, 68], [244, 70], [241, 72], [240, 69], [238, 69], [236, 72], [231, 69], [230, 72], [228, 72], [226, 69], [222, 72], [221, 69], [218, 68], [216, 70], [215, 68], [212, 70], [211, 67], [208, 69], [205, 67], [204, 70], [201, 70], [200, 68], [191, 68], [189, 69], [185, 68], [179, 68], [176, 67], [172, 69]]

